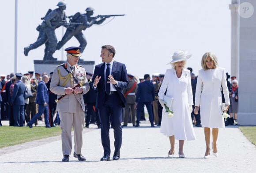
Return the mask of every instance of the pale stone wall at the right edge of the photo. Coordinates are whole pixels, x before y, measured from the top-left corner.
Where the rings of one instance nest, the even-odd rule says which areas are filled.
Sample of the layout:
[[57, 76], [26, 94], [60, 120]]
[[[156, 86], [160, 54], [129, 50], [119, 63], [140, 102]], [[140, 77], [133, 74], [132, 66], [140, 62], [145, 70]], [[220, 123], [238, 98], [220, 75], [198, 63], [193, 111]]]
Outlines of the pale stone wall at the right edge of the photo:
[[[256, 0], [240, 0], [254, 7], [249, 18], [239, 18], [238, 124], [256, 125]], [[252, 9], [249, 9], [252, 10]], [[245, 9], [245, 13], [248, 10]]]

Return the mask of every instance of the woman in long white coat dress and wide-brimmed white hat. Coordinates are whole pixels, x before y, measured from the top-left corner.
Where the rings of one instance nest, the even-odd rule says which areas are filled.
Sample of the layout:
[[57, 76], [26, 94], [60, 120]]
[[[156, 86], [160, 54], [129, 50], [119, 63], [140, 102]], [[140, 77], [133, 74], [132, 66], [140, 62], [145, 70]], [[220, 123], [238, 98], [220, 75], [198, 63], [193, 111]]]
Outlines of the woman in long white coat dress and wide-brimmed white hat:
[[[183, 145], [184, 140], [195, 140], [195, 132], [191, 121], [191, 112], [193, 105], [192, 87], [190, 71], [184, 66], [191, 54], [184, 50], [178, 50], [173, 54], [171, 64], [173, 68], [167, 69], [165, 78], [160, 87], [158, 97], [163, 107], [162, 122], [160, 132], [169, 137], [170, 151], [168, 157], [174, 156], [175, 139], [179, 140], [179, 157], [184, 158]], [[163, 97], [173, 97], [173, 117], [168, 117], [163, 101]]]

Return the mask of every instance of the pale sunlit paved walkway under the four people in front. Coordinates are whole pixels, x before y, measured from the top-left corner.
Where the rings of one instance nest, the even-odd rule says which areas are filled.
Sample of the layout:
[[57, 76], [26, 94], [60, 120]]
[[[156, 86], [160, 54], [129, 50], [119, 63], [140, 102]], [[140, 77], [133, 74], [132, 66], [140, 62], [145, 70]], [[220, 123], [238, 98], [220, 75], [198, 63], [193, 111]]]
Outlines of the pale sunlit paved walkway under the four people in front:
[[[103, 149], [100, 130], [90, 125], [84, 129], [83, 155], [86, 162], [73, 156], [70, 162], [61, 162], [61, 139], [58, 137], [28, 142], [0, 149], [0, 172], [3, 173], [254, 173], [256, 170], [256, 147], [241, 133], [237, 126], [219, 129], [218, 158], [212, 155], [204, 159], [203, 128], [195, 127], [196, 141], [185, 141], [185, 159], [178, 158], [178, 141], [175, 158], [167, 158], [169, 139], [151, 128], [148, 121], [140, 127], [123, 128], [123, 144], [120, 160], [100, 162]], [[26, 127], [28, 128], [28, 127]], [[33, 130], [33, 129], [31, 129]], [[113, 151], [113, 130], [110, 130]], [[72, 151], [73, 153], [73, 151]], [[113, 152], [111, 153], [112, 158]]]

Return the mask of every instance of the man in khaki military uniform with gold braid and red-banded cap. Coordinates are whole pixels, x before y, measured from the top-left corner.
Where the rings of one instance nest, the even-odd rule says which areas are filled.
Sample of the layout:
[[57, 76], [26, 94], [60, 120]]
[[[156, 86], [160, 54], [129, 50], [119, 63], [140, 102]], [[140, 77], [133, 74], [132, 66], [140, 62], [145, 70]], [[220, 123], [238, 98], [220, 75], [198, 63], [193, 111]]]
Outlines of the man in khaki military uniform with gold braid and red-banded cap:
[[[58, 95], [56, 110], [60, 115], [62, 162], [68, 162], [72, 151], [71, 129], [75, 135], [74, 157], [85, 161], [81, 154], [83, 145], [84, 102], [82, 94], [86, 94], [90, 85], [85, 69], [77, 65], [81, 47], [68, 47], [67, 61], [56, 67], [50, 84], [50, 90]], [[66, 94], [66, 95], [65, 95]], [[63, 95], [65, 95], [63, 97]]]

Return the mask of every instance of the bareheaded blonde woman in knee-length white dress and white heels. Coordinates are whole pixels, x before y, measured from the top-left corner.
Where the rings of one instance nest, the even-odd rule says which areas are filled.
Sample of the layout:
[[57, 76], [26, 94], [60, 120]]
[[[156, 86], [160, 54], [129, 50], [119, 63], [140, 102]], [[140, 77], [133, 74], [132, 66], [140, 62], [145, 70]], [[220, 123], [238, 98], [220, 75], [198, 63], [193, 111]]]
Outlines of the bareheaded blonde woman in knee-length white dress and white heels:
[[[217, 157], [217, 138], [218, 128], [224, 128], [224, 119], [222, 118], [222, 95], [226, 102], [226, 111], [229, 109], [230, 99], [229, 90], [226, 81], [226, 72], [224, 68], [218, 67], [218, 62], [215, 54], [206, 52], [201, 60], [203, 69], [200, 69], [196, 84], [195, 98], [195, 114], [198, 114], [200, 106], [201, 123], [204, 127], [204, 137], [206, 143], [206, 151], [204, 158], [210, 157], [210, 137], [212, 128], [212, 152]], [[221, 88], [222, 86], [222, 88]]]

